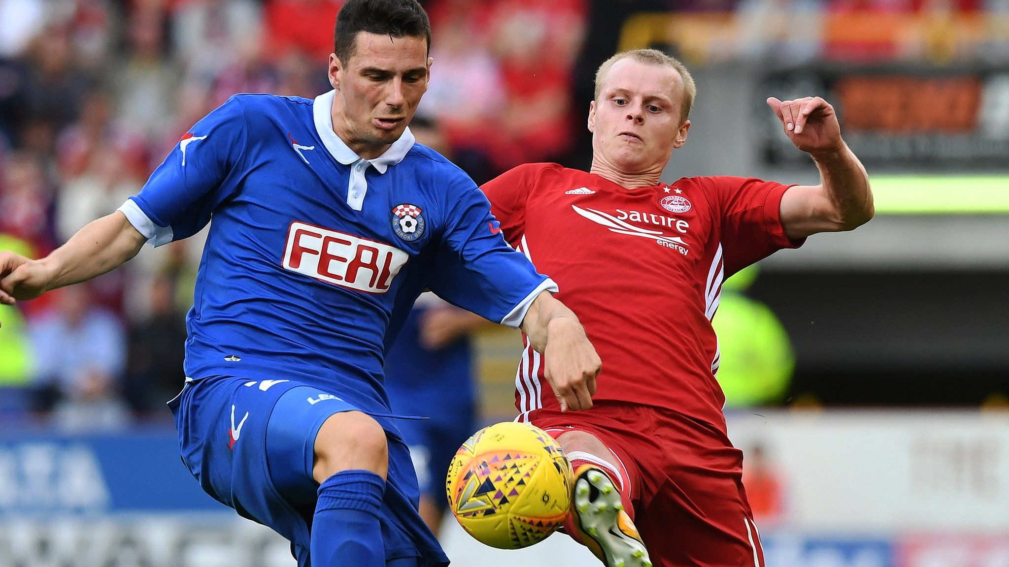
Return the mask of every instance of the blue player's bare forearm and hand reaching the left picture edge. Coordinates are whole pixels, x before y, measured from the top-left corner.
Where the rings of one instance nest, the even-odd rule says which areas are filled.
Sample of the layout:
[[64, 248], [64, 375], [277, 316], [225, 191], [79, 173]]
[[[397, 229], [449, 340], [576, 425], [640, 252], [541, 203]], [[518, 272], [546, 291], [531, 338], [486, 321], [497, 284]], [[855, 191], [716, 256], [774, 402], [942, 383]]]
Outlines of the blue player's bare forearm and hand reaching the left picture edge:
[[135, 256], [146, 241], [116, 211], [89, 223], [44, 258], [0, 251], [0, 303], [13, 305], [101, 275]]

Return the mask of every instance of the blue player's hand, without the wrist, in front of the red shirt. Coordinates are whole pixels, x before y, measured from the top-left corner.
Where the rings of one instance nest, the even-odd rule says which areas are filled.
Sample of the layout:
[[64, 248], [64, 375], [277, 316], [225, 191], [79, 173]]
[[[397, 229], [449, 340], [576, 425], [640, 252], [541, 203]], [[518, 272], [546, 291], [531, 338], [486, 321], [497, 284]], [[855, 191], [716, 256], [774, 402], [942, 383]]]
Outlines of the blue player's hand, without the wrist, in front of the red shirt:
[[595, 377], [602, 368], [602, 360], [576, 319], [554, 319], [548, 332], [546, 352], [543, 353], [547, 364], [544, 374], [561, 405], [561, 412], [588, 410], [592, 407]]

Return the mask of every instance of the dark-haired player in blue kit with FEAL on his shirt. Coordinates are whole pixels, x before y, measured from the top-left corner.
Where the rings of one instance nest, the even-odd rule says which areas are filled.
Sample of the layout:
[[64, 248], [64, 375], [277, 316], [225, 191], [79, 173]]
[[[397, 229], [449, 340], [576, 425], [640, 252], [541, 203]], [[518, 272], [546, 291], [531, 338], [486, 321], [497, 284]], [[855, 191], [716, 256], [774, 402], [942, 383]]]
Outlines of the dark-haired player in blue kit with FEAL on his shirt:
[[[521, 327], [562, 407], [591, 406], [600, 361], [553, 281], [512, 250], [483, 194], [414, 143], [430, 25], [416, 0], [350, 0], [333, 91], [237, 95], [199, 121], [112, 215], [48, 256], [0, 252], [0, 302], [89, 279], [211, 219], [170, 403], [183, 461], [212, 496], [292, 542], [301, 567], [447, 558], [382, 384], [430, 289]], [[152, 474], [155, 471], [151, 472]]]

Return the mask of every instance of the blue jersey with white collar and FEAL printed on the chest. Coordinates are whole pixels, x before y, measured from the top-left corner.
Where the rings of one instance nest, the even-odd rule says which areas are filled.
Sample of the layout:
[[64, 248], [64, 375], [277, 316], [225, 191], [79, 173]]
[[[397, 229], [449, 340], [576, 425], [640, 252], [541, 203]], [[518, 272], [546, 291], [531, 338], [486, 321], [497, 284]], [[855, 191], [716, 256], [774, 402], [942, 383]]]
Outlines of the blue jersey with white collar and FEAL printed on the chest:
[[291, 376], [380, 415], [384, 353], [425, 289], [517, 326], [556, 287], [409, 129], [377, 158], [354, 153], [333, 131], [333, 96], [230, 98], [120, 210], [154, 245], [213, 221], [187, 319], [190, 379]]

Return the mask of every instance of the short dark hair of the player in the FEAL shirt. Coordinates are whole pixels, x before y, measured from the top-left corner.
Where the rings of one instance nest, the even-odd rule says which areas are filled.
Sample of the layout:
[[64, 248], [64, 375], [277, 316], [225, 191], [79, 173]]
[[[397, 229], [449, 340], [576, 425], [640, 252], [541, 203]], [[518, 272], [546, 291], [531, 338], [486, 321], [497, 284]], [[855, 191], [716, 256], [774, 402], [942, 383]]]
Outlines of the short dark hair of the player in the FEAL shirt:
[[348, 0], [336, 15], [333, 52], [347, 65], [359, 31], [389, 37], [424, 37], [431, 52], [431, 22], [417, 0]]

